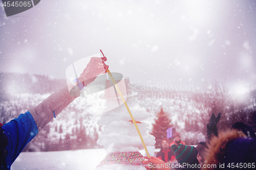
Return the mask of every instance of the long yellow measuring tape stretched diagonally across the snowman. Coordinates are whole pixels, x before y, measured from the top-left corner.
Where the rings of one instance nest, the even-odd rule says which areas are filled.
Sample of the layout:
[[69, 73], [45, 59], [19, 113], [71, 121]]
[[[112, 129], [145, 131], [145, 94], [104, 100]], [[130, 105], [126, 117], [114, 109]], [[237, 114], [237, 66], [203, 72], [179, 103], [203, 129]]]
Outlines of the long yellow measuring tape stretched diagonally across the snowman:
[[116, 87], [116, 90], [118, 91], [119, 95], [121, 96], [122, 101], [123, 101], [123, 103], [124, 103], [126, 109], [128, 110], [128, 112], [129, 112], [129, 114], [130, 114], [130, 116], [131, 116], [131, 118], [132, 118], [132, 120], [133, 120], [133, 124], [134, 124], [135, 128], [137, 129], [137, 132], [138, 132], [138, 134], [139, 134], [139, 136], [140, 136], [140, 139], [141, 139], [141, 142], [142, 142], [142, 144], [143, 144], [143, 147], [144, 147], [144, 149], [145, 149], [145, 151], [146, 151], [147, 157], [150, 158], [150, 154], [148, 153], [148, 151], [147, 151], [147, 149], [146, 149], [146, 145], [145, 145], [145, 142], [144, 142], [144, 140], [143, 140], [143, 138], [142, 138], [142, 136], [141, 136], [141, 134], [140, 134], [139, 128], [138, 128], [138, 126], [137, 126], [137, 124], [136, 124], [136, 122], [135, 122], [135, 120], [134, 120], [134, 118], [133, 118], [133, 115], [132, 115], [132, 113], [131, 113], [129, 107], [127, 106], [127, 104], [126, 104], [126, 102], [125, 102], [125, 100], [124, 100], [124, 98], [123, 98], [123, 95], [122, 95], [121, 91], [119, 90], [119, 88], [118, 88], [118, 86], [117, 86], [117, 84], [116, 84], [116, 81], [114, 80], [114, 78], [113, 78], [113, 76], [112, 76], [110, 70], [107, 69], [106, 71], [108, 71], [108, 74], [109, 74], [109, 76], [110, 76], [112, 82], [114, 83], [114, 85], [115, 85], [115, 87]]

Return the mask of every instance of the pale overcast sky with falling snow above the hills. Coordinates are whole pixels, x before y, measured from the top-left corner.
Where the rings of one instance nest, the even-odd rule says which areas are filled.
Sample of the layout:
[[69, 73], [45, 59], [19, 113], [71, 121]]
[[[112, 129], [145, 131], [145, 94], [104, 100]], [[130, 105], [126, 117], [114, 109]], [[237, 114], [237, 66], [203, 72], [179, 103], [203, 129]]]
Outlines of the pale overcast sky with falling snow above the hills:
[[66, 78], [69, 65], [101, 49], [110, 71], [131, 83], [256, 84], [252, 0], [41, 0], [10, 17], [0, 5], [2, 72]]

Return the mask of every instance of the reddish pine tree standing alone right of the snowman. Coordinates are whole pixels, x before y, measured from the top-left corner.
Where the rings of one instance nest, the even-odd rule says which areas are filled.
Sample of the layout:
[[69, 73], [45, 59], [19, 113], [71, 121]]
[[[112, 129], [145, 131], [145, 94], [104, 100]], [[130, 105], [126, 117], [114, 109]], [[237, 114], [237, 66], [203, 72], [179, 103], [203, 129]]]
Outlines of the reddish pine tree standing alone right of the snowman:
[[167, 137], [166, 130], [172, 125], [170, 124], [171, 120], [168, 115], [161, 108], [160, 112], [157, 113], [157, 118], [155, 119], [155, 123], [153, 124], [152, 135], [156, 137], [156, 148], [161, 148], [161, 140]]

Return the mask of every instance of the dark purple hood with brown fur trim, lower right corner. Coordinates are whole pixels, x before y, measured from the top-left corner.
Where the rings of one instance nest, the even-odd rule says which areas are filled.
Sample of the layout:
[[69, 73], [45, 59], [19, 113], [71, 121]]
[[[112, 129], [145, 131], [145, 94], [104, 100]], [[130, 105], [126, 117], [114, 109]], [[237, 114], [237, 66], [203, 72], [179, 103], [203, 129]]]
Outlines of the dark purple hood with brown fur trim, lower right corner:
[[[228, 162], [236, 163], [246, 160], [248, 163], [254, 161], [256, 153], [255, 143], [255, 138], [247, 137], [242, 131], [229, 130], [220, 133], [218, 137], [212, 137], [209, 144], [207, 144], [206, 151], [203, 155], [204, 164], [216, 165], [216, 169], [221, 169], [219, 165], [224, 162], [225, 166], [227, 166]], [[244, 157], [250, 158], [247, 159]], [[202, 169], [215, 168], [212, 166], [211, 168], [202, 167]]]

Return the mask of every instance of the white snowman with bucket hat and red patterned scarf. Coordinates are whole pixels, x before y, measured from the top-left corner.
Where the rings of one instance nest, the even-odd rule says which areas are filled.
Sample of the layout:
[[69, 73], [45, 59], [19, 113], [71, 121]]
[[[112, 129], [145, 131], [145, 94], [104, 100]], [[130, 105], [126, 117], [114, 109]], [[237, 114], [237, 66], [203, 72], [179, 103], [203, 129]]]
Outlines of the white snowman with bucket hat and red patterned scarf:
[[[145, 109], [133, 108], [136, 104], [137, 92], [132, 91], [129, 78], [114, 79], [118, 82], [117, 86], [136, 120], [145, 145], [154, 145], [155, 137], [148, 133], [148, 125], [143, 123], [148, 113]], [[109, 111], [102, 114], [97, 122], [99, 126], [103, 126], [97, 144], [105, 148], [106, 157], [97, 165], [96, 170], [145, 170], [145, 165], [141, 164], [143, 155], [139, 152], [143, 149], [140, 136], [111, 80], [105, 80], [105, 91], [99, 98], [106, 100], [106, 110]]]

